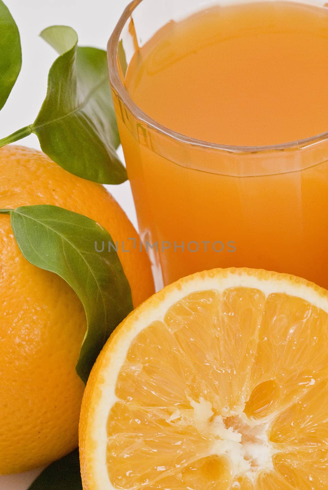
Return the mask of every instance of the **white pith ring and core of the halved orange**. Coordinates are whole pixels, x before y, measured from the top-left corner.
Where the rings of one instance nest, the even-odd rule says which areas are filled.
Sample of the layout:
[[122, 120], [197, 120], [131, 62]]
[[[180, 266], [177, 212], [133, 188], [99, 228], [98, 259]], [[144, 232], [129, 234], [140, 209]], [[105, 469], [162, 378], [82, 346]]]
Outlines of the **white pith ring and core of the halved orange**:
[[[93, 481], [97, 490], [116, 490], [108, 477], [106, 466], [107, 432], [106, 423], [111, 407], [119, 401], [115, 395], [116, 380], [125, 362], [128, 348], [134, 338], [151, 322], [163, 320], [167, 310], [177, 301], [188, 294], [216, 290], [222, 293], [228, 288], [248, 287], [258, 289], [267, 297], [273, 293], [289, 294], [300, 297], [314, 306], [321, 308], [328, 313], [328, 299], [318, 294], [313, 287], [304, 283], [289, 282], [287, 279], [268, 277], [269, 280], [257, 276], [228, 272], [227, 276], [196, 277], [194, 280], [182, 284], [182, 287], [172, 288], [165, 295], [163, 300], [156, 307], [142, 309], [133, 324], [121, 331], [118, 342], [114, 348], [102, 360], [101, 370], [106, 371], [106, 377], [102, 379], [102, 384], [98, 384], [101, 390], [101, 397], [94, 407], [92, 420], [89, 420], [88, 434], [92, 434], [90, 444], [95, 449], [92, 455]], [[124, 327], [123, 327], [124, 328]], [[200, 406], [201, 403], [201, 406]], [[208, 402], [191, 401], [194, 408], [195, 424], [208, 424], [209, 431], [216, 431], [217, 441], [211, 449], [211, 454], [226, 455], [233, 462], [233, 473], [247, 475], [252, 481], [256, 475], [264, 468], [272, 468], [273, 448], [267, 438], [267, 429], [270, 421], [258, 424], [256, 441], [252, 444], [242, 443], [241, 434], [229, 429], [224, 423], [224, 417], [213, 418], [213, 412]], [[227, 414], [229, 416], [231, 414]], [[246, 417], [245, 414], [233, 414]], [[178, 414], [176, 414], [178, 416]], [[220, 418], [221, 417], [221, 418]], [[210, 420], [211, 419], [211, 420]], [[250, 429], [255, 422], [245, 420]]]

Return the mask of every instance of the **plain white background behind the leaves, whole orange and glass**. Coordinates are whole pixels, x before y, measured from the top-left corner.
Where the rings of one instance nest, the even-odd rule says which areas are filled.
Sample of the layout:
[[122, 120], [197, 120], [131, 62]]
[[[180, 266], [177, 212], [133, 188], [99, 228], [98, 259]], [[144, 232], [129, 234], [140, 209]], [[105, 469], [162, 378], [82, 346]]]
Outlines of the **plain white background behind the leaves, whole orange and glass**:
[[[21, 34], [23, 67], [19, 79], [0, 112], [0, 138], [33, 123], [47, 89], [47, 75], [56, 54], [39, 33], [49, 25], [70, 25], [78, 33], [79, 44], [106, 48], [108, 38], [128, 0], [4, 0]], [[18, 144], [40, 148], [31, 135]], [[120, 156], [122, 153], [120, 152]], [[128, 182], [107, 186], [136, 226]], [[5, 423], [1, 420], [1, 423]], [[37, 472], [0, 476], [0, 490], [26, 490]], [[63, 489], [69, 490], [69, 489]]]

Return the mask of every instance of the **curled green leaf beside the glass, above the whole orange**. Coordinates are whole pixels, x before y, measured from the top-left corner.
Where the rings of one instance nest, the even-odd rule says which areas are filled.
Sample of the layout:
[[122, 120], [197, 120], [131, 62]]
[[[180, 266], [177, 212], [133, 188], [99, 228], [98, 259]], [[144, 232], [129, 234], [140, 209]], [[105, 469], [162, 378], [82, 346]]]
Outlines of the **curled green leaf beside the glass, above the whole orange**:
[[48, 27], [41, 37], [60, 56], [50, 68], [47, 96], [31, 131], [65, 170], [94, 182], [121, 184], [127, 175], [115, 151], [120, 137], [106, 52], [77, 47], [71, 27]]

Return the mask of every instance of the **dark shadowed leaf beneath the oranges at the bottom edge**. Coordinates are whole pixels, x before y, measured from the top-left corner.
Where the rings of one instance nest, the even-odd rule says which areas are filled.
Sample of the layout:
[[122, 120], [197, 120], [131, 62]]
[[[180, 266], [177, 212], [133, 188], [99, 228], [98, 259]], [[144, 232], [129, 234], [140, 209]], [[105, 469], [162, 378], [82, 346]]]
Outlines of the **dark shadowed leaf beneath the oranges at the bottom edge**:
[[48, 466], [28, 490], [82, 490], [78, 449]]

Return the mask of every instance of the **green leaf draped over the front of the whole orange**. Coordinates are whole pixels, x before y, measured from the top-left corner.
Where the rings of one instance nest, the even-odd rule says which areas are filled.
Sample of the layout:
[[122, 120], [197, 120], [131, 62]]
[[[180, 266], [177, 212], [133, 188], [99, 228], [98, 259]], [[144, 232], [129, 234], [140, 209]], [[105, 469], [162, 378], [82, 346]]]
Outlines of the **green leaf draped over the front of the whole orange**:
[[[113, 247], [108, 252], [112, 238], [95, 221], [56, 206], [22, 206], [10, 211], [10, 219], [25, 259], [62, 277], [83, 304], [87, 332], [76, 371], [86, 383], [109, 335], [133, 309], [118, 255]], [[107, 253], [96, 251], [96, 241]]]

